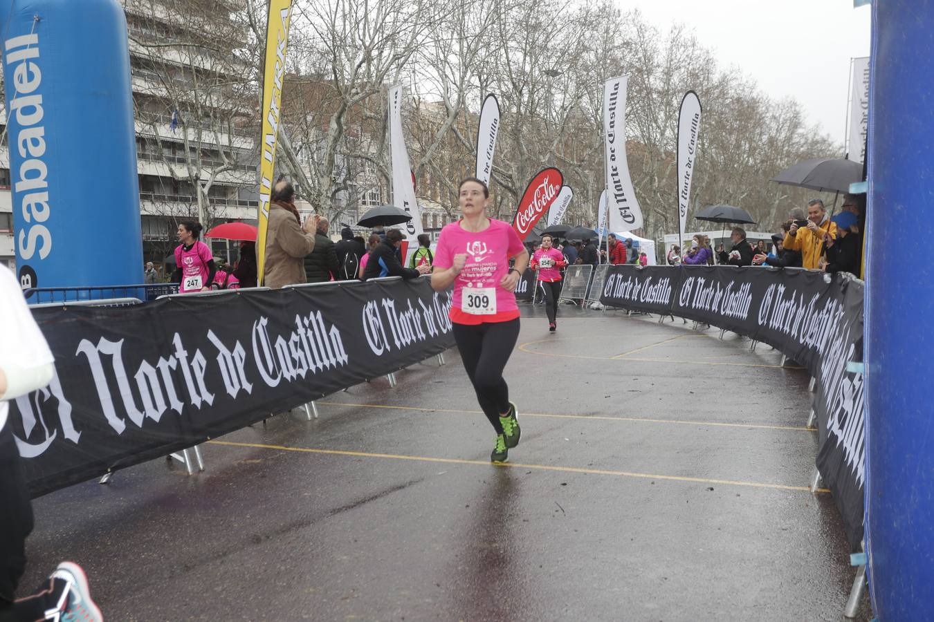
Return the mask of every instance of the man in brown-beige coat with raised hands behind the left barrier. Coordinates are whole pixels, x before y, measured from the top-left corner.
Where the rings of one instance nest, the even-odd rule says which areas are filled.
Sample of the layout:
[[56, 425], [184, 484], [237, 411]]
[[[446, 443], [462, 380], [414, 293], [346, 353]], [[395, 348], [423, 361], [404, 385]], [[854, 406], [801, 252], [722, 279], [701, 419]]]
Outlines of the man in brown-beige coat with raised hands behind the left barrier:
[[295, 188], [283, 180], [276, 182], [270, 197], [266, 228], [266, 287], [304, 283], [304, 256], [315, 248], [318, 214], [304, 219], [295, 207]]

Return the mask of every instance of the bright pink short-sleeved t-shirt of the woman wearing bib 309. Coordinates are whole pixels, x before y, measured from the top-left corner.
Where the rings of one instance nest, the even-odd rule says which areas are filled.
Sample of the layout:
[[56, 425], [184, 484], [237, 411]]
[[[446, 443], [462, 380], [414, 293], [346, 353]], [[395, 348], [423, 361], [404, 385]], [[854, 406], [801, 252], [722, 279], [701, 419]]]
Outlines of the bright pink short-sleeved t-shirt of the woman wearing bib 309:
[[[516, 295], [500, 287], [509, 271], [509, 258], [525, 249], [516, 230], [502, 220], [489, 219], [489, 227], [472, 233], [460, 227], [460, 222], [441, 229], [434, 267], [446, 270], [454, 265], [454, 256], [467, 255], [467, 263], [454, 280], [454, 297], [450, 318], [457, 324], [506, 322], [519, 316]], [[463, 311], [464, 288], [493, 288], [496, 291], [496, 311], [474, 314]]]

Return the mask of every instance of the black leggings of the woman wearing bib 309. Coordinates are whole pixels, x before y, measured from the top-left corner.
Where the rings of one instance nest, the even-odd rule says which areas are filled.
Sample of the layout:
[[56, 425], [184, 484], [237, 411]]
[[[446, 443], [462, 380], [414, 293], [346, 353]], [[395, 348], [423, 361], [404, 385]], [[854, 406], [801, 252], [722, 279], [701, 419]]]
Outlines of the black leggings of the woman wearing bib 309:
[[476, 401], [496, 430], [502, 435], [500, 415], [509, 412], [509, 387], [502, 380], [502, 370], [519, 339], [519, 319], [478, 325], [454, 325], [460, 360], [474, 384]]

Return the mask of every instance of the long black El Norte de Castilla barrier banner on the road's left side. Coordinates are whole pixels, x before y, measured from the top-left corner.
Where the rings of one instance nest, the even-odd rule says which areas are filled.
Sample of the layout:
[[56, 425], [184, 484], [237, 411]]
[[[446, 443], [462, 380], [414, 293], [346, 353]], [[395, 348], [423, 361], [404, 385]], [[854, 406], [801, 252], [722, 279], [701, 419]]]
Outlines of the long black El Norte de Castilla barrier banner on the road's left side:
[[34, 495], [226, 434], [454, 345], [427, 279], [39, 309], [49, 387], [10, 406]]

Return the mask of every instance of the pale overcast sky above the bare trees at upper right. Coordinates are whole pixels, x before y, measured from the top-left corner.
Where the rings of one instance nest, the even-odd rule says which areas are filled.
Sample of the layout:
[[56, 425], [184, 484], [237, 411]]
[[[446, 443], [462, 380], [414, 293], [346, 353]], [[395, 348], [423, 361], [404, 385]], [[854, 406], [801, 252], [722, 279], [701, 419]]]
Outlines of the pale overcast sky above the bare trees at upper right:
[[616, 0], [667, 30], [680, 21], [775, 98], [795, 97], [824, 133], [843, 143], [850, 59], [870, 54], [870, 7], [853, 0]]

